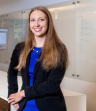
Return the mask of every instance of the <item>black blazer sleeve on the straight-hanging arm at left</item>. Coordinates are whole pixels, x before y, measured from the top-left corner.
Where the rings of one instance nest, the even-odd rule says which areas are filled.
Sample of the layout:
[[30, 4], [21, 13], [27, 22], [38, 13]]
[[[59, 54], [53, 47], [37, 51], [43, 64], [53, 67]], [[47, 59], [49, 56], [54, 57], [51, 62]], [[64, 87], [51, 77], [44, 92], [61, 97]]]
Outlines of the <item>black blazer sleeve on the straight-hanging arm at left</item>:
[[11, 62], [9, 65], [9, 69], [7, 72], [7, 79], [8, 79], [8, 97], [10, 94], [16, 93], [18, 91], [18, 85], [17, 85], [17, 73], [18, 70], [15, 70], [14, 67], [18, 65], [18, 56], [17, 56], [17, 47], [16, 45], [15, 49], [13, 50]]

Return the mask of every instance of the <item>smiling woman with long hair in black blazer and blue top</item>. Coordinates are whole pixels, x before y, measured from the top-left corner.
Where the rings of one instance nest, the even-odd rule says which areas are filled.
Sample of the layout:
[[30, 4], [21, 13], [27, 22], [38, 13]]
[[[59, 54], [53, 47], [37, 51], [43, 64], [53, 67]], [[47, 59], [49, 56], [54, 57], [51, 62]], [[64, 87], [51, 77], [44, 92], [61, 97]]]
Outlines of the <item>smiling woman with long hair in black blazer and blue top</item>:
[[[60, 83], [67, 49], [58, 38], [46, 7], [31, 10], [25, 42], [15, 47], [8, 70], [8, 102], [18, 111], [66, 111]], [[22, 87], [17, 85], [21, 71]]]

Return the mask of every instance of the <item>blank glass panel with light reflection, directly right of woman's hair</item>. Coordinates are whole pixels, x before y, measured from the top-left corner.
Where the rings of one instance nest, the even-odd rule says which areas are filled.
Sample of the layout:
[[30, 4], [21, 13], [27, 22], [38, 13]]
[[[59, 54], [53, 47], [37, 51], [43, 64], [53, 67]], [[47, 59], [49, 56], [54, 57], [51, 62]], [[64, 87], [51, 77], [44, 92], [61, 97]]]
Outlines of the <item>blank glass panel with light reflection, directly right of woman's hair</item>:
[[76, 78], [76, 5], [75, 1], [47, 6], [56, 32], [68, 49], [68, 67], [65, 76]]

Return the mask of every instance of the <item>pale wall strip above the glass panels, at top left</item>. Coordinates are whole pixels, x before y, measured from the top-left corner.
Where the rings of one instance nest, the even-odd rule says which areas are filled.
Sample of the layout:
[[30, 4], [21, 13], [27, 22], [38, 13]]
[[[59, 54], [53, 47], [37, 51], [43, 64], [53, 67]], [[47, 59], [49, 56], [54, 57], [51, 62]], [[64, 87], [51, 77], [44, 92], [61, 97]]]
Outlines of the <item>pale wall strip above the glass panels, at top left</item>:
[[6, 0], [0, 3], [0, 15], [10, 12], [31, 9], [38, 5], [50, 5], [71, 0]]

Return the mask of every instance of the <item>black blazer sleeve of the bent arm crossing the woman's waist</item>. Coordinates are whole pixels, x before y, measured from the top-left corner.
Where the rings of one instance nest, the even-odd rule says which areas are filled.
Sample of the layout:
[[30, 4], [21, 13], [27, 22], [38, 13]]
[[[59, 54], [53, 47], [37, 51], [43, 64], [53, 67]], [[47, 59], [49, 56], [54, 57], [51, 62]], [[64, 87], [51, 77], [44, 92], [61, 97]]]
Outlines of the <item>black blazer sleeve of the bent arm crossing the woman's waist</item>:
[[33, 86], [26, 86], [24, 90], [27, 100], [44, 97], [58, 92], [64, 73], [65, 68], [54, 68], [51, 70], [47, 81]]

